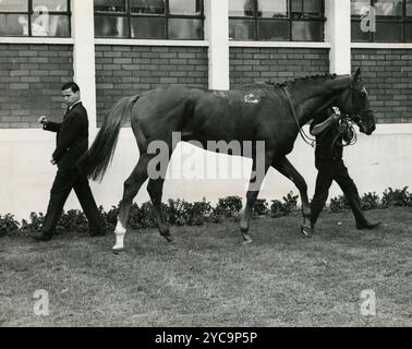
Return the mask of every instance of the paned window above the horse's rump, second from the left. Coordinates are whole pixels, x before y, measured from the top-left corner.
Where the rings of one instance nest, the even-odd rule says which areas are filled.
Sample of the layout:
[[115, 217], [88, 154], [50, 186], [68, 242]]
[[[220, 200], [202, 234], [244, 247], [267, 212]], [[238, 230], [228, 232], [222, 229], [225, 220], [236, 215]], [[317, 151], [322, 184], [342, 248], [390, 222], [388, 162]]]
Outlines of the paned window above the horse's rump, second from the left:
[[203, 39], [203, 0], [94, 0], [95, 36]]

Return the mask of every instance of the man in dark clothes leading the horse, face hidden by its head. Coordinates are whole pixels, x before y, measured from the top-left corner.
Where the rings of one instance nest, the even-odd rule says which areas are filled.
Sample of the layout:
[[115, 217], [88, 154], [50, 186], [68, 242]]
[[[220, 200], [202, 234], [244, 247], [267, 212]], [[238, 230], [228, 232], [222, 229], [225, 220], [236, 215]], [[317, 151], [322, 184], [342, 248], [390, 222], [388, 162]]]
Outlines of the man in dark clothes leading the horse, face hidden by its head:
[[323, 116], [311, 123], [310, 132], [316, 136], [315, 167], [318, 171], [315, 194], [311, 202], [311, 227], [314, 230], [316, 220], [323, 210], [329, 194], [329, 188], [335, 180], [352, 209], [358, 229], [374, 229], [380, 222], [371, 222], [361, 208], [356, 184], [349, 176], [342, 160], [343, 141], [349, 142], [353, 131], [341, 123], [339, 110], [328, 109]]

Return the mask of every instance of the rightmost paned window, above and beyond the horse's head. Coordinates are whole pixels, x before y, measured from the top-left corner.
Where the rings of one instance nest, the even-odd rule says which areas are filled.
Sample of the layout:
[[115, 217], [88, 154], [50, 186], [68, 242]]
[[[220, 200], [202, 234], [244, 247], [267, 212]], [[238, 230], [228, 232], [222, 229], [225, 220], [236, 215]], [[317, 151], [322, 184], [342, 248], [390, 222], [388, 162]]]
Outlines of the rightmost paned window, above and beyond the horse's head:
[[352, 41], [412, 43], [412, 0], [351, 0]]

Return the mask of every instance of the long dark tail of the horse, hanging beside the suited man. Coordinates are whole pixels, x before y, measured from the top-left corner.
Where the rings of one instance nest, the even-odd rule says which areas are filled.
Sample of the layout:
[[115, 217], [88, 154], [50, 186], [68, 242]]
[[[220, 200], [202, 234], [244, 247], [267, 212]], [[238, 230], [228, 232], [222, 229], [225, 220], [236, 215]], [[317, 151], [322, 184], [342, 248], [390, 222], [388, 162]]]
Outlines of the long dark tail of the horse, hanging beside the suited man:
[[122, 124], [126, 121], [140, 95], [121, 98], [106, 116], [90, 148], [77, 163], [81, 171], [93, 180], [101, 181], [109, 167]]

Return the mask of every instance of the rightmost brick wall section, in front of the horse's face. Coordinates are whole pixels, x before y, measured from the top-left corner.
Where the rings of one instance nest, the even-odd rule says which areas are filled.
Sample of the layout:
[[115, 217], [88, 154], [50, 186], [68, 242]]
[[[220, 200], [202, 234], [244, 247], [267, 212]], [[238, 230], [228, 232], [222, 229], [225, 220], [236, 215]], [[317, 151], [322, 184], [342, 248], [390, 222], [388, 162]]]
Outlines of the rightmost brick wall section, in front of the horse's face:
[[412, 49], [353, 49], [379, 123], [412, 122]]

